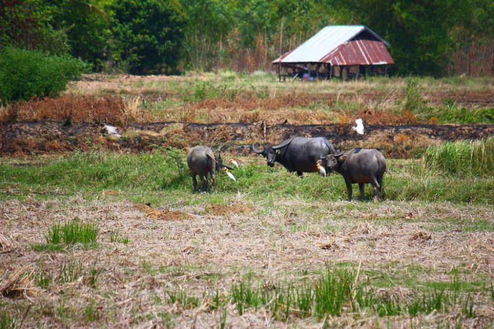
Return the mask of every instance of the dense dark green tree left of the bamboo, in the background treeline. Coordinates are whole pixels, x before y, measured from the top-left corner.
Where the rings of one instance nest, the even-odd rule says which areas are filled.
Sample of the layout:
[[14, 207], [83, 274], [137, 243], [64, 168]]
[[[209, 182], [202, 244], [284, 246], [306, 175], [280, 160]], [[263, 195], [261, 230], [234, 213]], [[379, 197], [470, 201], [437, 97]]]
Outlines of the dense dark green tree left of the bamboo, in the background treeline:
[[186, 16], [176, 0], [122, 0], [113, 12], [114, 57], [132, 74], [171, 73], [181, 55]]

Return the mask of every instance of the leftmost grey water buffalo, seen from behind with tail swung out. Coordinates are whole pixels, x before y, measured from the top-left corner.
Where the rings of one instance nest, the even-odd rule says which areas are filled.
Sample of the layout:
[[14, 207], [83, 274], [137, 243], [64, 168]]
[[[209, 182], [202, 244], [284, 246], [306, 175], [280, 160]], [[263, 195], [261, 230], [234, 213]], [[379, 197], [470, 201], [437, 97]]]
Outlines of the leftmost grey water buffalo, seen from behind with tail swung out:
[[[220, 158], [219, 158], [220, 159]], [[226, 167], [228, 169], [233, 169], [227, 165], [218, 162], [214, 159], [213, 151], [207, 146], [198, 145], [193, 147], [187, 154], [187, 165], [189, 166], [190, 173], [192, 175], [192, 183], [194, 185], [194, 191], [197, 189], [197, 179], [196, 175], [199, 175], [201, 179], [201, 192], [206, 190], [207, 179], [206, 174], [209, 172], [211, 176], [211, 185], [213, 190], [216, 190], [216, 181], [214, 177], [214, 171], [216, 170], [216, 164], [219, 168]]]

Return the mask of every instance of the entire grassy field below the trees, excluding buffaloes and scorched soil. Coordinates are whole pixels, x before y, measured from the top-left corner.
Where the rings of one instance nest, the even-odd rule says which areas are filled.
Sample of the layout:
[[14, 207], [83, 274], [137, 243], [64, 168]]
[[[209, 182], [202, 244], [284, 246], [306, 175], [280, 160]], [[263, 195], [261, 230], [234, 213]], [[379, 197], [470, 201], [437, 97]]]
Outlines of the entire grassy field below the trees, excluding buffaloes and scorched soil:
[[[19, 116], [1, 125], [1, 136], [25, 143], [0, 158], [0, 328], [493, 327], [494, 143], [484, 133], [493, 80], [276, 79], [93, 76], [58, 99], [18, 104]], [[375, 128], [336, 145], [382, 145], [382, 200], [371, 201], [367, 187], [365, 200], [346, 202], [337, 174], [299, 178], [268, 167], [228, 140], [237, 127], [206, 126], [194, 139], [185, 126], [272, 124], [297, 111], [290, 131], [346, 127], [365, 111], [391, 124], [385, 143]], [[115, 119], [133, 148], [104, 147], [120, 144], [101, 136], [95, 118]], [[464, 133], [445, 143], [414, 125], [396, 133], [406, 120], [431, 118], [482, 123], [458, 130], [478, 129], [470, 138], [479, 140]], [[154, 121], [178, 123], [145, 133], [132, 126]], [[21, 123], [41, 128], [26, 137]], [[77, 124], [87, 144], [71, 144]], [[243, 129], [235, 134], [253, 128]], [[143, 148], [145, 134], [165, 137]], [[262, 128], [251, 136], [241, 142], [260, 142]], [[186, 140], [184, 149], [171, 140]], [[194, 140], [236, 159], [237, 181], [218, 172], [215, 192], [192, 194], [185, 154]], [[63, 142], [70, 148], [33, 146]], [[400, 159], [408, 153], [397, 147], [414, 156]]]

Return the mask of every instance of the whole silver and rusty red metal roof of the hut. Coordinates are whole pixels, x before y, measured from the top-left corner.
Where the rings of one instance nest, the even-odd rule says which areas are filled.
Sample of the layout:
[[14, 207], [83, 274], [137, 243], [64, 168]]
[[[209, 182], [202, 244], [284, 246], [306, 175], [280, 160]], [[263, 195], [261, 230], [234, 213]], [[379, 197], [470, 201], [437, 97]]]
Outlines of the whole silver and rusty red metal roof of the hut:
[[[367, 32], [371, 37], [358, 39], [363, 32]], [[367, 40], [372, 38], [375, 40]], [[389, 43], [364, 25], [326, 26], [312, 38], [272, 63], [392, 64], [393, 59], [385, 45], [389, 46]], [[341, 64], [336, 64], [338, 61]]]

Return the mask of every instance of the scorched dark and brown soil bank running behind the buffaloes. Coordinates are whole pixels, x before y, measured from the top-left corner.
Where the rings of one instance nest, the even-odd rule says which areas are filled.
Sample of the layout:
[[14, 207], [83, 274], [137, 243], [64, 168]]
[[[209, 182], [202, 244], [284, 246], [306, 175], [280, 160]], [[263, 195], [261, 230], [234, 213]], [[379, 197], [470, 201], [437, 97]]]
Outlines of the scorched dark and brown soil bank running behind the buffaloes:
[[101, 126], [60, 122], [16, 122], [0, 125], [0, 155], [46, 154], [90, 150], [152, 151], [159, 146], [187, 148], [198, 144], [222, 145], [225, 151], [248, 154], [252, 143], [279, 143], [293, 136], [324, 136], [342, 150], [368, 147], [390, 158], [409, 157], [430, 145], [460, 139], [486, 138], [494, 124], [458, 125], [366, 125], [358, 135], [350, 124], [295, 125], [264, 123], [135, 123], [123, 130], [124, 137], [103, 136]]

